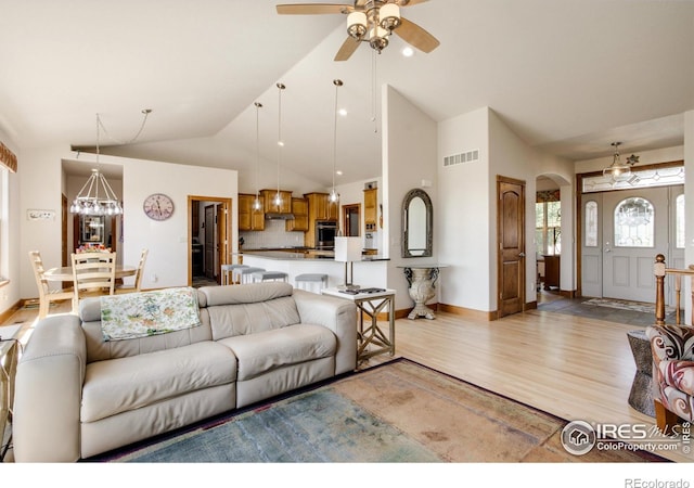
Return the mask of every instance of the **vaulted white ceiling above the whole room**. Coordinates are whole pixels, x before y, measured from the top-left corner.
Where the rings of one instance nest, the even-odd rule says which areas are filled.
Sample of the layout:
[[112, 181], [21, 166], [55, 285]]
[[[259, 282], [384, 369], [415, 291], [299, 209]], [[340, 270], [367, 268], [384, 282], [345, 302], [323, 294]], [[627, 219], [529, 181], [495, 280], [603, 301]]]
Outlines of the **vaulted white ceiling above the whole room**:
[[437, 121], [489, 106], [529, 144], [571, 159], [611, 154], [615, 140], [624, 152], [681, 144], [694, 108], [692, 1], [429, 0], [402, 14], [438, 49], [406, 59], [395, 38], [346, 62], [333, 61], [345, 16], [281, 16], [277, 3], [0, 0], [0, 130], [21, 147], [94, 145], [99, 113], [106, 145], [151, 108], [138, 143], [113, 152], [244, 170], [256, 101], [261, 157], [277, 157], [281, 81], [282, 165], [329, 183], [335, 78], [348, 110], [337, 123], [344, 181], [380, 172], [383, 84]]

